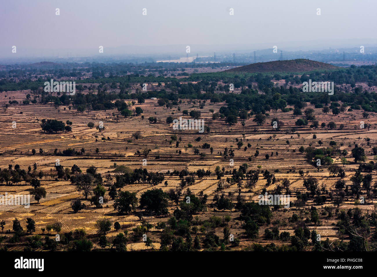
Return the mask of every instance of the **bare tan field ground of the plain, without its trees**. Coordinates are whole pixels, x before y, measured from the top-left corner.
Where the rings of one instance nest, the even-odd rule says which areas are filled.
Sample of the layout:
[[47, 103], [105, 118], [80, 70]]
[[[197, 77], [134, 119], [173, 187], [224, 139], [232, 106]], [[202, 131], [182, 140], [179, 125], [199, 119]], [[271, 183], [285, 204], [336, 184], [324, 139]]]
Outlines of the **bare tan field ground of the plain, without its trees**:
[[[30, 91], [16, 91], [5, 92], [0, 94], [0, 105], [3, 106], [7, 103], [8, 98], [22, 101]], [[7, 97], [4, 97], [7, 96]], [[126, 99], [132, 101], [133, 99]], [[179, 107], [182, 110], [198, 109], [198, 103], [193, 104], [188, 99], [181, 99], [182, 104]], [[252, 121], [253, 117], [248, 118], [245, 121], [245, 126], [241, 125], [241, 121], [237, 124], [229, 126], [225, 124], [223, 119], [212, 119], [212, 113], [210, 109], [218, 112], [220, 107], [225, 103], [205, 103], [204, 109], [201, 109], [201, 118], [204, 119], [205, 124], [210, 126], [210, 132], [198, 133], [197, 130], [180, 131], [173, 130], [172, 124], [166, 123], [168, 116], [179, 117], [182, 116], [182, 112], [179, 112], [176, 107], [168, 109], [164, 106], [158, 106], [157, 100], [146, 99], [145, 103], [135, 103], [131, 109], [141, 107], [143, 109], [144, 119], [141, 116], [131, 116], [118, 118], [113, 115], [119, 112], [116, 109], [104, 111], [89, 110], [85, 112], [77, 112], [77, 110], [69, 110], [67, 106], [54, 107], [50, 104], [33, 104], [33, 105], [12, 105], [8, 109], [2, 109], [0, 111], [0, 168], [2, 170], [8, 169], [11, 164], [13, 167], [19, 165], [21, 169], [28, 170], [28, 167], [33, 167], [35, 163], [37, 165], [37, 171], [43, 171], [44, 177], [40, 180], [41, 186], [46, 189], [46, 198], [43, 198], [37, 204], [37, 201], [31, 197], [31, 205], [29, 208], [23, 206], [6, 206], [0, 205], [0, 220], [5, 220], [5, 230], [12, 229], [12, 220], [19, 219], [21, 225], [25, 229], [25, 221], [27, 217], [31, 217], [35, 220], [36, 234], [42, 234], [41, 228], [44, 228], [48, 224], [54, 222], [62, 223], [62, 233], [74, 231], [78, 228], [82, 228], [86, 231], [89, 238], [93, 238], [94, 248], [99, 248], [97, 245], [98, 238], [96, 237], [97, 229], [95, 223], [98, 219], [109, 219], [112, 223], [118, 221], [121, 224], [122, 231], [129, 231], [132, 233], [132, 229], [135, 226], [141, 224], [138, 216], [133, 213], [130, 215], [122, 215], [117, 211], [114, 211], [113, 200], [108, 196], [109, 190], [105, 194], [105, 203], [102, 208], [95, 208], [90, 204], [89, 200], [85, 200], [81, 191], [77, 190], [77, 187], [69, 180], [55, 179], [51, 177], [56, 175], [55, 162], [57, 159], [64, 168], [72, 168], [75, 164], [84, 172], [90, 166], [97, 167], [97, 172], [103, 176], [106, 173], [110, 173], [112, 176], [112, 182], [115, 181], [115, 166], [119, 167], [124, 165], [131, 168], [146, 168], [148, 171], [164, 173], [165, 181], [161, 182], [155, 188], [161, 188], [164, 191], [168, 191], [171, 188], [178, 188], [180, 179], [179, 176], [170, 176], [167, 172], [173, 172], [174, 170], [181, 171], [187, 169], [190, 172], [196, 172], [198, 169], [210, 170], [210, 176], [204, 176], [199, 179], [195, 176], [195, 183], [190, 185], [190, 190], [199, 195], [201, 192], [208, 195], [208, 209], [205, 212], [198, 213], [194, 216], [196, 222], [209, 220], [212, 216], [218, 216], [221, 219], [225, 215], [230, 215], [231, 220], [228, 223], [231, 234], [241, 239], [239, 246], [232, 247], [231, 249], [244, 249], [247, 246], [253, 245], [253, 243], [261, 243], [266, 245], [274, 242], [277, 246], [284, 244], [289, 245], [290, 242], [265, 240], [263, 237], [264, 229], [271, 226], [278, 226], [280, 232], [288, 231], [293, 234], [295, 225], [288, 221], [288, 218], [293, 213], [300, 214], [303, 218], [310, 217], [310, 207], [313, 205], [313, 200], [309, 200], [305, 207], [297, 208], [281, 208], [278, 211], [273, 212], [271, 225], [262, 225], [259, 228], [259, 236], [255, 239], [250, 239], [244, 234], [242, 228], [242, 221], [239, 219], [239, 211], [218, 211], [213, 205], [211, 205], [211, 199], [217, 193], [217, 176], [215, 175], [215, 168], [225, 168], [227, 171], [238, 169], [240, 165], [247, 164], [248, 170], [258, 170], [260, 166], [261, 171], [259, 174], [259, 180], [252, 191], [248, 191], [247, 188], [242, 187], [240, 194], [245, 197], [246, 200], [258, 200], [258, 195], [263, 188], [267, 191], [273, 189], [279, 180], [287, 178], [291, 182], [291, 201], [296, 200], [296, 192], [306, 191], [303, 186], [303, 179], [308, 176], [313, 176], [319, 180], [319, 185], [324, 185], [326, 189], [334, 189], [334, 184], [338, 177], [333, 177], [325, 166], [320, 167], [317, 170], [316, 167], [310, 165], [305, 159], [305, 153], [300, 153], [299, 148], [301, 146], [308, 147], [312, 144], [315, 147], [320, 147], [318, 141], [323, 142], [322, 147], [328, 147], [330, 141], [337, 142], [340, 150], [347, 150], [348, 155], [346, 158], [350, 162], [349, 165], [342, 165], [340, 157], [334, 158], [334, 163], [339, 164], [345, 170], [345, 178], [347, 185], [351, 184], [350, 178], [354, 174], [354, 170], [358, 167], [358, 164], [354, 164], [351, 150], [354, 144], [365, 149], [366, 156], [369, 160], [373, 159], [372, 147], [376, 144], [376, 124], [377, 120], [374, 113], [370, 113], [368, 119], [363, 118], [362, 111], [353, 110], [352, 112], [344, 112], [339, 115], [332, 115], [331, 113], [323, 114], [322, 109], [315, 109], [313, 105], [308, 103], [307, 108], [314, 109], [314, 115], [316, 119], [322, 122], [334, 121], [337, 125], [344, 124], [343, 130], [338, 128], [329, 130], [328, 128], [313, 129], [308, 125], [305, 127], [297, 128], [297, 132], [292, 133], [290, 129], [296, 128], [295, 121], [296, 116], [292, 113], [283, 112], [270, 112], [269, 117], [264, 125], [258, 126]], [[289, 108], [290, 106], [288, 106]], [[149, 116], [156, 116], [157, 122], [150, 123]], [[283, 127], [276, 131], [271, 125], [272, 118], [277, 117], [284, 122]], [[41, 130], [40, 123], [42, 119], [58, 119], [63, 122], [67, 120], [72, 121], [72, 132], [60, 132], [60, 133], [44, 133]], [[184, 116], [189, 118], [189, 116]], [[12, 122], [16, 122], [15, 128], [12, 128]], [[104, 130], [101, 132], [95, 127], [99, 122], [103, 122]], [[371, 124], [370, 129], [360, 129], [360, 121], [365, 121], [365, 124]], [[94, 122], [95, 127], [89, 128], [87, 124]], [[132, 138], [132, 134], [135, 132], [141, 132], [142, 138], [136, 140]], [[177, 135], [181, 138], [179, 146], [176, 147], [175, 141], [170, 143], [170, 136]], [[316, 135], [316, 139], [313, 139], [313, 135]], [[195, 139], [201, 137], [198, 142]], [[104, 138], [104, 139], [102, 139]], [[367, 139], [368, 144], [367, 144]], [[238, 149], [236, 139], [244, 142], [243, 146]], [[287, 144], [289, 141], [289, 144]], [[202, 149], [201, 145], [204, 143], [210, 144], [213, 147], [213, 153], [210, 153], [210, 149]], [[193, 147], [187, 147], [192, 144]], [[244, 150], [244, 146], [250, 144]], [[186, 147], [185, 147], [186, 146]], [[199, 156], [194, 154], [194, 149], [198, 147], [201, 153], [205, 153], [205, 156]], [[219, 155], [219, 152], [224, 152], [224, 148], [234, 150], [234, 165], [231, 165], [229, 157], [224, 159], [224, 156]], [[84, 148], [85, 152], [80, 156], [56, 156], [54, 155], [55, 148], [63, 151], [67, 148], [72, 148], [76, 151]], [[98, 153], [96, 152], [98, 148]], [[143, 154], [137, 154], [144, 148], [149, 148], [152, 151], [146, 158], [146, 165], [143, 165]], [[32, 154], [32, 149], [36, 150], [36, 153]], [[41, 149], [41, 153], [39, 151]], [[259, 155], [256, 157], [254, 153], [259, 151]], [[178, 152], [181, 151], [181, 154]], [[273, 153], [273, 155], [271, 155]], [[269, 159], [265, 158], [265, 155], [269, 154]], [[251, 160], [249, 159], [251, 157]], [[276, 182], [266, 187], [266, 179], [262, 176], [262, 173], [268, 170], [275, 174]], [[299, 170], [303, 170], [303, 176], [300, 176]], [[223, 179], [231, 177], [231, 174], [225, 174]], [[373, 176], [375, 179], [375, 175]], [[243, 181], [244, 183], [246, 181]], [[25, 184], [24, 181], [18, 184], [0, 186], [0, 193], [8, 194], [29, 194], [31, 186]], [[108, 187], [106, 187], [108, 189]], [[136, 192], [137, 197], [140, 197], [142, 193], [151, 189], [150, 184], [138, 183], [130, 184], [123, 187], [122, 191]], [[186, 190], [187, 187], [184, 188]], [[362, 189], [363, 190], [363, 189]], [[237, 184], [231, 185], [229, 188], [225, 188], [223, 191], [225, 194], [231, 192], [233, 196], [233, 202], [236, 203], [236, 196], [239, 193]], [[73, 213], [70, 207], [70, 202], [74, 199], [81, 199], [86, 204], [86, 208]], [[359, 205], [359, 208], [363, 212], [372, 213], [375, 211], [375, 205], [377, 199], [366, 200], [365, 205]], [[354, 208], [354, 197], [346, 197], [345, 202], [339, 207], [340, 210], [348, 210]], [[329, 238], [345, 239], [347, 236], [340, 234], [335, 225], [337, 222], [336, 217], [328, 218], [325, 214], [321, 214], [323, 208], [326, 205], [334, 205], [326, 202], [323, 206], [317, 206], [320, 215], [320, 224], [314, 225], [308, 224], [310, 230], [316, 230], [321, 235], [322, 240]], [[173, 213], [176, 205], [169, 202], [169, 212]], [[157, 217], [149, 214], [144, 214], [144, 219], [147, 222], [155, 225], [158, 222], [167, 222], [169, 217]], [[215, 233], [222, 238], [223, 228], [215, 228]], [[44, 232], [46, 234], [47, 231]], [[106, 234], [110, 239], [113, 238], [119, 231], [112, 230]], [[201, 234], [201, 231], [198, 231]], [[8, 234], [5, 234], [8, 235]], [[55, 237], [53, 231], [49, 234], [51, 237]], [[159, 248], [159, 239], [161, 236], [161, 230], [152, 228], [149, 230], [148, 236], [152, 239], [155, 248]], [[8, 249], [23, 249], [23, 243], [25, 240], [21, 240], [14, 245], [8, 244]], [[146, 249], [143, 241], [133, 241], [127, 244], [127, 250]]]

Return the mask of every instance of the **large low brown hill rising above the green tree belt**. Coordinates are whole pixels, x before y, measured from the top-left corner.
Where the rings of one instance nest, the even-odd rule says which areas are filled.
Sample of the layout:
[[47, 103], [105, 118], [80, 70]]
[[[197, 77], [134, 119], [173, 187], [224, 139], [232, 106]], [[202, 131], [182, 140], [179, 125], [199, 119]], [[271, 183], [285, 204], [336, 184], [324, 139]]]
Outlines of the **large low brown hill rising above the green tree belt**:
[[311, 70], [333, 70], [339, 67], [320, 61], [312, 61], [306, 59], [268, 61], [266, 63], [252, 63], [247, 66], [239, 66], [236, 68], [225, 70], [227, 72], [305, 72]]

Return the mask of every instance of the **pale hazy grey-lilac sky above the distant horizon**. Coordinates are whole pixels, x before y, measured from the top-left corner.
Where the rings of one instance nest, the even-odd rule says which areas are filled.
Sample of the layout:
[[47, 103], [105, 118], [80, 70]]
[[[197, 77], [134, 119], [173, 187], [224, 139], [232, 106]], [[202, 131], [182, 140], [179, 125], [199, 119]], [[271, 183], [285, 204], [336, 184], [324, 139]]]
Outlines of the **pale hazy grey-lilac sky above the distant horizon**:
[[[199, 45], [359, 47], [377, 43], [376, 10], [376, 0], [0, 0], [0, 57], [89, 56], [99, 46], [183, 56], [186, 45], [195, 54]], [[147, 47], [166, 45], [175, 47]]]

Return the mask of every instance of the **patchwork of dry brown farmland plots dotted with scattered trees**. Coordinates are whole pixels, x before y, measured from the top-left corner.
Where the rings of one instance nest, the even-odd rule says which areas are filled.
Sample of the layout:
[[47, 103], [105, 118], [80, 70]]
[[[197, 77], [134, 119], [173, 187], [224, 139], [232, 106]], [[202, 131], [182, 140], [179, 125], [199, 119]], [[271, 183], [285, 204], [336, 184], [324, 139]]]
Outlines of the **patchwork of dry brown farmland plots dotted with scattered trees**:
[[[136, 85], [133, 88], [139, 93]], [[5, 105], [8, 99], [21, 101], [30, 93], [31, 90], [2, 92], [0, 105]], [[92, 92], [84, 90], [82, 93]], [[311, 122], [297, 126], [300, 117], [292, 114], [296, 109], [294, 105], [287, 105], [288, 112], [268, 112], [267, 120], [262, 124], [254, 121], [253, 115], [228, 124], [221, 116], [214, 116], [221, 107], [227, 106], [224, 101], [181, 98], [177, 99], [177, 104], [165, 106], [158, 99], [146, 98], [136, 103], [136, 93], [131, 94], [134, 98], [124, 99], [133, 114], [126, 117], [115, 107], [80, 112], [77, 107], [71, 109], [69, 104], [44, 103], [11, 105], [0, 112], [0, 172], [11, 175], [9, 179], [4, 176], [0, 179], [1, 193], [32, 194], [32, 179], [46, 191], [39, 201], [31, 196], [28, 208], [0, 205], [0, 220], [5, 223], [2, 247], [23, 249], [31, 247], [30, 241], [35, 235], [55, 241], [58, 234], [60, 240], [56, 245], [36, 247], [35, 250], [75, 247], [67, 239], [70, 236], [74, 241], [86, 237], [93, 249], [107, 250], [116, 247], [112, 242], [121, 233], [127, 237], [128, 251], [169, 249], [179, 237], [184, 240], [195, 238], [197, 250], [224, 248], [237, 251], [271, 245], [287, 250], [299, 249], [290, 236], [297, 236], [297, 228], [305, 228], [312, 235], [320, 235], [317, 245], [313, 241], [299, 249], [310, 250], [331, 247], [326, 245], [327, 239], [336, 241], [336, 245], [340, 242], [339, 247], [352, 239], [339, 223], [345, 213], [351, 218], [359, 214], [362, 220], [372, 220], [375, 216], [377, 194], [373, 193], [376, 189], [375, 185], [373, 189], [373, 182], [369, 182], [368, 191], [361, 185], [356, 194], [346, 192], [339, 196], [342, 189], [336, 188], [337, 182], [343, 181], [351, 190], [355, 184], [355, 171], [363, 172], [363, 176], [367, 174], [366, 165], [376, 155], [373, 148], [377, 139], [374, 112], [365, 117], [362, 110], [346, 109], [334, 115], [324, 113], [323, 107], [307, 103], [305, 111], [310, 109], [313, 121], [319, 121], [319, 125], [326, 122], [325, 126], [309, 126]], [[341, 101], [335, 103], [342, 104]], [[143, 111], [139, 115], [135, 113], [137, 108]], [[175, 130], [169, 118], [192, 118], [184, 110], [199, 110], [208, 129], [203, 133]], [[273, 127], [274, 118], [278, 119], [279, 128]], [[44, 132], [41, 129], [43, 119], [70, 121], [67, 125], [71, 129]], [[328, 122], [334, 122], [337, 127], [329, 127]], [[360, 122], [364, 122], [364, 129], [360, 129]], [[361, 162], [354, 161], [352, 149], [355, 147], [363, 148], [365, 158]], [[63, 152], [68, 149], [69, 154]], [[316, 165], [314, 156], [308, 155], [313, 149], [325, 149], [325, 156], [331, 162], [326, 164], [320, 158], [322, 164]], [[17, 179], [17, 172], [22, 170], [26, 175]], [[119, 176], [132, 174], [135, 170], [158, 173], [163, 178], [155, 184], [143, 181], [143, 178], [120, 184]], [[198, 170], [203, 173], [198, 174]], [[75, 181], [84, 173], [94, 176], [87, 197]], [[257, 176], [254, 181], [253, 175]], [[190, 176], [193, 180], [187, 179]], [[375, 179], [374, 172], [371, 178]], [[308, 180], [315, 181], [313, 195], [310, 187], [304, 185]], [[360, 184], [362, 182], [363, 179]], [[92, 199], [96, 185], [104, 190], [100, 203]], [[115, 197], [110, 196], [112, 189]], [[147, 191], [156, 189], [167, 195], [167, 213], [156, 214], [138, 206], [126, 213], [114, 208], [115, 199], [123, 191], [135, 193], [140, 200]], [[259, 195], [265, 193], [289, 194], [290, 202], [288, 206], [268, 207], [271, 216], [267, 218], [260, 215], [254, 217], [253, 223], [245, 222], [250, 218], [247, 219], [246, 208], [242, 205], [258, 203]], [[187, 214], [189, 210], [185, 207], [187, 195], [195, 196], [202, 203], [202, 207], [191, 214]], [[177, 202], [174, 197], [178, 197]], [[226, 199], [230, 204], [221, 206], [219, 199]], [[74, 211], [72, 203], [77, 200], [82, 207]], [[25, 230], [26, 220], [34, 220], [35, 230], [17, 236], [12, 230], [15, 219]], [[115, 228], [114, 223], [119, 226], [115, 225]], [[108, 230], [103, 231], [101, 224], [110, 224]], [[374, 228], [371, 226], [369, 232], [374, 232]], [[277, 235], [271, 235], [271, 230], [273, 233], [277, 230]], [[144, 233], [148, 242], [143, 240]], [[235, 242], [224, 237], [230, 235]], [[170, 244], [166, 243], [169, 236]], [[104, 245], [103, 237], [108, 244]], [[219, 242], [213, 243], [211, 239]], [[374, 245], [372, 237], [366, 241], [371, 247]]]

